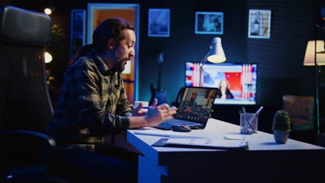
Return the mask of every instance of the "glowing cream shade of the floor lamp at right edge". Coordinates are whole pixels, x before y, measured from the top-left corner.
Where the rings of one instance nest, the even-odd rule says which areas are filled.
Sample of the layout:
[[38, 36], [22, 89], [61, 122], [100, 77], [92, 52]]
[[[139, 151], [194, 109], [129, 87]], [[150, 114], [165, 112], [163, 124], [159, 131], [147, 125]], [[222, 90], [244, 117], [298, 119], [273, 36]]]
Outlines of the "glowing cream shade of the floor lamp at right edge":
[[315, 40], [309, 41], [306, 48], [305, 59], [303, 60], [303, 65], [313, 66], [315, 65], [315, 52], [316, 52], [316, 62], [317, 65], [325, 65], [325, 49], [324, 41], [316, 41], [316, 51], [315, 51]]

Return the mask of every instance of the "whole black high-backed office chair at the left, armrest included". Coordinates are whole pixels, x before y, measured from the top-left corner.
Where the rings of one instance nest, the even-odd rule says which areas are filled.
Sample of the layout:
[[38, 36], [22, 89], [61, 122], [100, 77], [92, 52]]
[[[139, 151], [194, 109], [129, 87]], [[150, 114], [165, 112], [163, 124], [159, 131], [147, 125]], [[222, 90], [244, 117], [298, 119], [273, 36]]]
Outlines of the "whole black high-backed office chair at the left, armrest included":
[[44, 134], [53, 108], [44, 76], [51, 18], [0, 6], [0, 182], [49, 182]]

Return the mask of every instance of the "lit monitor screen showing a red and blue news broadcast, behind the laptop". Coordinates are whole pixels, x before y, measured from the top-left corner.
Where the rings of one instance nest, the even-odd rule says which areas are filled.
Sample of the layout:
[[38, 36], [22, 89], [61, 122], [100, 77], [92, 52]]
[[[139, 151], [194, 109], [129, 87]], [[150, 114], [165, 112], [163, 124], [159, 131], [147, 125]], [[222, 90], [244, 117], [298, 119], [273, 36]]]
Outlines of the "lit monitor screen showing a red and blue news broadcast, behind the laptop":
[[[200, 63], [185, 63], [185, 86], [199, 87]], [[201, 87], [218, 88], [215, 104], [256, 104], [257, 64], [206, 63]]]

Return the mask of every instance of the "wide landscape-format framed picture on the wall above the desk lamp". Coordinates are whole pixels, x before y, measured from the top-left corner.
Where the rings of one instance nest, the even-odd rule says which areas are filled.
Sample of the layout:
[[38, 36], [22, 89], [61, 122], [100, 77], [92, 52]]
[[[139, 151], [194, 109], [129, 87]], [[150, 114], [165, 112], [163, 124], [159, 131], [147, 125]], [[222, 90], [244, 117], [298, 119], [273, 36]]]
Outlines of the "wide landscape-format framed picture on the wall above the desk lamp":
[[224, 12], [195, 12], [196, 34], [223, 34]]

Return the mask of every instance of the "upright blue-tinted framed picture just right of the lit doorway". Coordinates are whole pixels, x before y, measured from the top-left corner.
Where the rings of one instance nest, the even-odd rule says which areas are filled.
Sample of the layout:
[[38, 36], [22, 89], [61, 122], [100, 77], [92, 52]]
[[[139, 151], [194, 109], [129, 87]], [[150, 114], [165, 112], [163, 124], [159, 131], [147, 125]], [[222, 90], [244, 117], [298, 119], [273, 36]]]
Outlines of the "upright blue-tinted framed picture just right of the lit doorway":
[[149, 8], [148, 36], [169, 37], [170, 10]]

